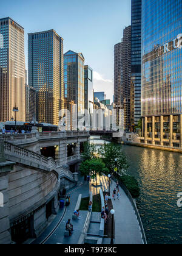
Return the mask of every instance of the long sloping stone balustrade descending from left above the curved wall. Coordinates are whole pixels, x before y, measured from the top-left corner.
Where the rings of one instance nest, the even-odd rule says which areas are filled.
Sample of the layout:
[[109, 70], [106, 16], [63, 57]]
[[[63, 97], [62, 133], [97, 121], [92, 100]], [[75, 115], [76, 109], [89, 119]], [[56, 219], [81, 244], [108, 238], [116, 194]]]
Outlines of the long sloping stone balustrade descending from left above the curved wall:
[[[45, 171], [56, 171], [56, 162], [52, 157], [44, 157], [29, 149], [24, 149], [10, 142], [4, 141], [4, 150], [7, 160], [14, 160]], [[10, 157], [10, 159], [8, 159]]]

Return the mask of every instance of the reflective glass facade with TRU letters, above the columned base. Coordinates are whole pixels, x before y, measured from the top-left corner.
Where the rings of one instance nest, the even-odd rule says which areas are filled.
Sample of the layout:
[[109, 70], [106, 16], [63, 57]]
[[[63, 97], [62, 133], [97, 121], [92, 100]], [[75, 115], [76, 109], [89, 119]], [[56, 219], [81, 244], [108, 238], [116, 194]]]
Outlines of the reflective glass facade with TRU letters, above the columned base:
[[181, 0], [143, 0], [143, 116], [182, 113], [181, 33]]

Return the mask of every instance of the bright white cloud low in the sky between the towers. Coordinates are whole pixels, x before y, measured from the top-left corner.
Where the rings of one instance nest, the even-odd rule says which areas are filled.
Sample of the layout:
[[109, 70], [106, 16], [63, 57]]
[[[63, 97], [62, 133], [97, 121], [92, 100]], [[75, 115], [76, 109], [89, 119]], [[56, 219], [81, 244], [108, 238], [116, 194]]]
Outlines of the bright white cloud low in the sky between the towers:
[[93, 89], [94, 91], [104, 91], [106, 99], [113, 101], [113, 82], [109, 79], [104, 79], [101, 74], [93, 71]]

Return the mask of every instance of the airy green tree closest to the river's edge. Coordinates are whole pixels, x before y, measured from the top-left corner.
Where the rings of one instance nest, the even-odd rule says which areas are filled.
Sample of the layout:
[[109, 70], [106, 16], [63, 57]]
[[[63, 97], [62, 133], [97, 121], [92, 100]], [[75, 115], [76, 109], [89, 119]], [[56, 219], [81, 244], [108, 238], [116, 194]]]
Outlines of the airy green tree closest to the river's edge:
[[124, 174], [124, 171], [129, 167], [124, 152], [121, 150], [121, 145], [110, 143], [104, 143], [98, 149], [98, 154], [101, 160], [105, 163], [110, 173], [114, 172], [115, 168], [118, 168], [118, 174]]

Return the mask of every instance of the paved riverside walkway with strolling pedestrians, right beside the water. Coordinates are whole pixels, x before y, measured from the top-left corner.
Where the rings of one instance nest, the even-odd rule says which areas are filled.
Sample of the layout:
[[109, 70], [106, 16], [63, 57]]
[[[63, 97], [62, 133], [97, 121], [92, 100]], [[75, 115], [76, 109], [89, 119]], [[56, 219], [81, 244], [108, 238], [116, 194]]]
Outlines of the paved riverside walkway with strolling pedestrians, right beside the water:
[[[112, 181], [110, 187], [111, 197], [114, 188], [116, 188], [116, 183]], [[112, 204], [115, 210], [115, 244], [143, 244], [135, 211], [121, 187], [120, 194], [120, 200], [117, 198], [114, 200], [112, 197]]]

